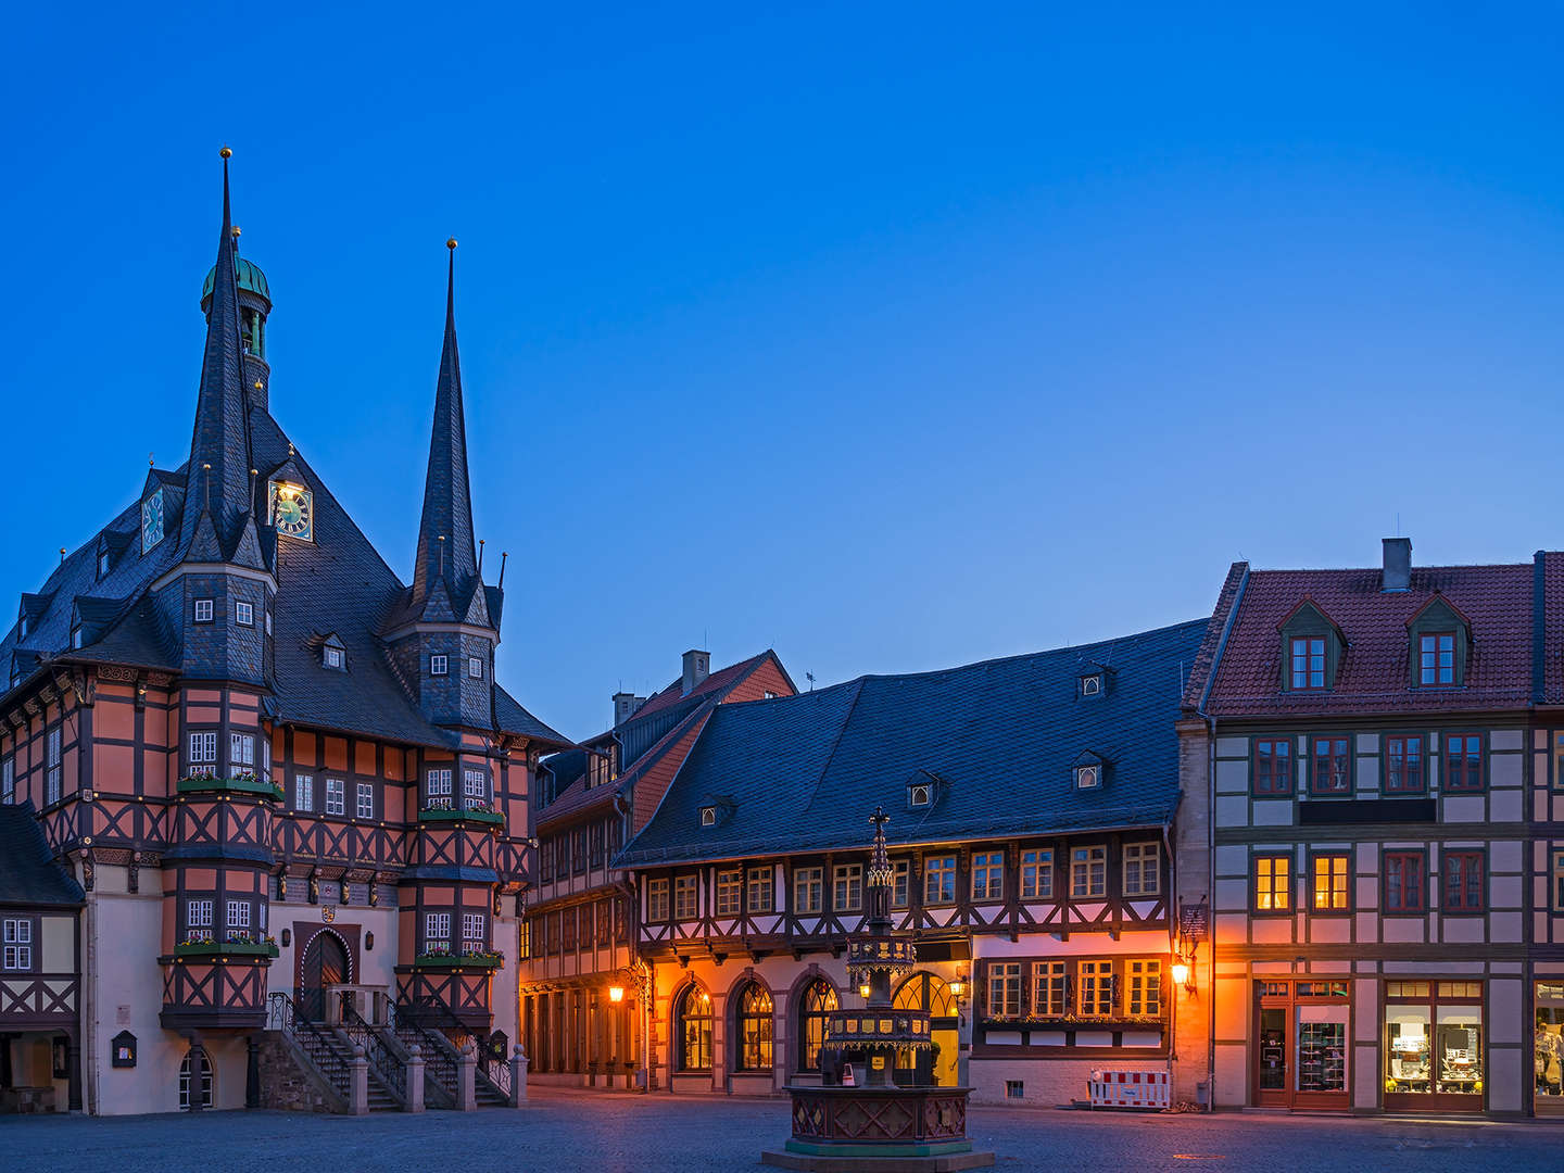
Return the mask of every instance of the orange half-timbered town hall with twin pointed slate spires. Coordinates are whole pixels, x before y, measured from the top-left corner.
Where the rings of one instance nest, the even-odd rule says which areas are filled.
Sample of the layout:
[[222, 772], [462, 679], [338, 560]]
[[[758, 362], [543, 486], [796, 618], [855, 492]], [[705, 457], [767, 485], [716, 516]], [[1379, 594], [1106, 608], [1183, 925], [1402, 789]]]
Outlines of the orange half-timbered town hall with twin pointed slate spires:
[[566, 744], [494, 682], [454, 252], [402, 583], [271, 414], [271, 288], [236, 247], [225, 163], [189, 458], [0, 640], [0, 802], [84, 890], [91, 1112], [255, 1104], [278, 1009], [339, 995], [515, 1038], [532, 774]]

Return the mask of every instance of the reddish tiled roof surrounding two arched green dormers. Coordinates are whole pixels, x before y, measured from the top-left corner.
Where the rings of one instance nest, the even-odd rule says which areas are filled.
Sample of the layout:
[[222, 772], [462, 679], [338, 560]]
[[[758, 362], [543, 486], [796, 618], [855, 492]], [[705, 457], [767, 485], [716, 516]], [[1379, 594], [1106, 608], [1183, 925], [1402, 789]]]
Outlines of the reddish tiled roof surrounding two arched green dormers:
[[[1201, 651], [1186, 699], [1198, 705], [1203, 696], [1204, 712], [1218, 718], [1523, 708], [1533, 691], [1533, 579], [1530, 563], [1415, 566], [1411, 590], [1381, 591], [1378, 566], [1256, 571], [1234, 563], [1212, 621], [1225, 627], [1231, 608], [1225, 640], [1215, 635], [1220, 658], [1215, 643], [1209, 657]], [[1558, 591], [1564, 610], [1564, 585]], [[1470, 622], [1465, 687], [1414, 688], [1408, 622], [1439, 597]], [[1281, 626], [1306, 599], [1340, 627], [1347, 647], [1333, 688], [1284, 693]], [[1564, 671], [1553, 676], [1564, 694]]]

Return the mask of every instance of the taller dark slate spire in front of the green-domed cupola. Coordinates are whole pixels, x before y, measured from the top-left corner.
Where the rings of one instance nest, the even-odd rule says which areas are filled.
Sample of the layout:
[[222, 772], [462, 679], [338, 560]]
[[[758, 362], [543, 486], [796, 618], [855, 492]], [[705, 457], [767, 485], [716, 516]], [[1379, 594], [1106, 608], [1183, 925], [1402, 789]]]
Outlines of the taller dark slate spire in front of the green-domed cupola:
[[[189, 551], [197, 521], [210, 510], [219, 546], [227, 552], [241, 518], [250, 508], [249, 394], [244, 386], [244, 344], [239, 332], [239, 278], [235, 269], [235, 231], [228, 199], [228, 156], [222, 149], [222, 228], [213, 274], [211, 314], [202, 357], [196, 429], [191, 436], [189, 477], [202, 469], [206, 508], [188, 508], [180, 524], [180, 547]], [[210, 466], [210, 468], [203, 468]], [[205, 543], [203, 543], [205, 544]]]

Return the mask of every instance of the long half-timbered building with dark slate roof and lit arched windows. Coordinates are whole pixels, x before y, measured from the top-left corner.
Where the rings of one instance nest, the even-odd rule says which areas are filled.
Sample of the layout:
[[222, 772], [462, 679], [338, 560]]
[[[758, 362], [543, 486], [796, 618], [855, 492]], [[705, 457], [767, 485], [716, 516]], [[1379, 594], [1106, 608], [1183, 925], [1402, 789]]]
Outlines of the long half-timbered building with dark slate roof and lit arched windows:
[[[859, 1006], [866, 818], [891, 812], [898, 929], [934, 1074], [1057, 1104], [1104, 1064], [1165, 1074], [1181, 673], [1204, 621], [723, 705], [618, 865], [652, 973], [657, 1084], [820, 1079]], [[907, 1056], [907, 1064], [913, 1057]]]

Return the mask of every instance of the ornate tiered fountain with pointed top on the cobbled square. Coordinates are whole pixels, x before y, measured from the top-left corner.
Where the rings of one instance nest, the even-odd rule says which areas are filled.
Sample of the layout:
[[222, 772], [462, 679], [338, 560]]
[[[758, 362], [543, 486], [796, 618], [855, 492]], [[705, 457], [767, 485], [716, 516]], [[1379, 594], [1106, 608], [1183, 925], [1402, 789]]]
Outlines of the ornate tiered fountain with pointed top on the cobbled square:
[[[790, 1085], [793, 1135], [782, 1153], [760, 1160], [780, 1168], [815, 1170], [960, 1170], [993, 1164], [993, 1153], [974, 1153], [967, 1139], [968, 1087], [934, 1085], [935, 1043], [927, 1010], [896, 1010], [891, 985], [917, 968], [918, 948], [909, 934], [891, 929], [893, 871], [885, 851], [879, 807], [874, 856], [868, 870], [868, 934], [848, 942], [848, 979], [863, 1006], [834, 1010], [821, 1046], [824, 1082]], [[901, 1068], [898, 1056], [910, 1056]], [[851, 1079], [851, 1082], [849, 1082]]]

